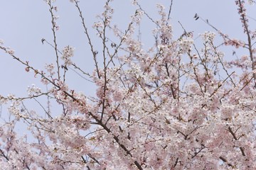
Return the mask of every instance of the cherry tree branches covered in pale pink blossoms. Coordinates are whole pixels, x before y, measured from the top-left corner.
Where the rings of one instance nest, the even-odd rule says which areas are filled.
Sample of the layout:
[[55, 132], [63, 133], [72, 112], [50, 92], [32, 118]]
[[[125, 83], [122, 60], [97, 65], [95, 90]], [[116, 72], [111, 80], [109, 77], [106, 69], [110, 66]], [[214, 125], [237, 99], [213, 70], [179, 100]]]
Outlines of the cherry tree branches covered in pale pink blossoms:
[[[74, 47], [58, 50], [57, 7], [46, 2], [53, 42], [43, 42], [55, 50], [53, 62], [36, 68], [0, 41], [1, 52], [42, 83], [28, 86], [26, 96], [0, 95], [9, 113], [0, 125], [1, 169], [256, 169], [255, 33], [245, 1], [234, 3], [243, 40], [217, 29], [195, 40], [185, 28], [174, 36], [171, 7], [161, 4], [154, 21], [132, 1], [137, 9], [122, 30], [107, 0], [92, 26], [102, 49], [91, 41], [79, 1], [70, 1], [90, 47], [91, 73], [73, 60]], [[149, 49], [136, 36], [146, 17], [155, 26]], [[230, 57], [227, 46], [240, 53]], [[94, 96], [73, 89], [72, 71], [93, 84]], [[31, 99], [40, 108], [26, 106]], [[18, 134], [21, 125], [26, 132]]]

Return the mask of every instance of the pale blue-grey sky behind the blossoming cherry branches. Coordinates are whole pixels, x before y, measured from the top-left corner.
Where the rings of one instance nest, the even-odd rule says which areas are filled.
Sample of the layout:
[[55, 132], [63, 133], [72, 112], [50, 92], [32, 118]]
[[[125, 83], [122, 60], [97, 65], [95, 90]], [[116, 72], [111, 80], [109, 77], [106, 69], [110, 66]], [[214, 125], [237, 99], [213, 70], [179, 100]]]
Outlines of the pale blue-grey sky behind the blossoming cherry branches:
[[[55, 53], [49, 45], [42, 45], [41, 39], [45, 38], [48, 42], [53, 42], [53, 33], [51, 31], [51, 18], [48, 11], [48, 5], [43, 0], [0, 0], [0, 39], [4, 40], [4, 45], [15, 50], [15, 55], [21, 60], [28, 60], [36, 69], [43, 69], [46, 63], [55, 63]], [[168, 13], [171, 1], [167, 0], [141, 0], [142, 8], [154, 20], [159, 19], [156, 3], [164, 4]], [[97, 50], [101, 51], [102, 46], [97, 39], [95, 30], [92, 30], [92, 24], [97, 21], [95, 16], [102, 13], [103, 0], [80, 0], [80, 8], [85, 17], [85, 23], [91, 35], [92, 42]], [[130, 21], [130, 16], [134, 14], [137, 6], [131, 5], [131, 0], [115, 0], [111, 3], [114, 8], [113, 23], [124, 30]], [[85, 72], [91, 72], [94, 68], [90, 48], [87, 45], [87, 39], [83, 33], [80, 17], [75, 5], [68, 0], [57, 0], [60, 18], [57, 20], [60, 30], [57, 32], [57, 43], [59, 50], [66, 45], [75, 47], [75, 57], [73, 61], [84, 69]], [[174, 28], [174, 38], [178, 38], [183, 29], [178, 24], [180, 21], [187, 31], [193, 31], [194, 38], [199, 33], [213, 30], [203, 21], [195, 21], [193, 16], [198, 13], [202, 18], [208, 19], [210, 23], [228, 33], [230, 38], [246, 40], [243, 34], [241, 23], [238, 16], [235, 1], [226, 0], [174, 0], [171, 11], [171, 23]], [[256, 18], [255, 6], [250, 7], [248, 15]], [[256, 22], [251, 21], [250, 28], [256, 28]], [[141, 25], [142, 42], [145, 47], [154, 43], [154, 37], [151, 30], [155, 28], [144, 16]], [[198, 39], [195, 42], [199, 43]], [[226, 55], [232, 57], [232, 52], [225, 51]], [[26, 73], [25, 67], [13, 60], [9, 55], [0, 52], [0, 94], [16, 94], [16, 96], [26, 96], [27, 86], [36, 84], [43, 90], [40, 78], [34, 78], [33, 72]], [[87, 95], [94, 95], [94, 86], [88, 81], [81, 79], [74, 72], [68, 72], [68, 84], [71, 89], [82, 91]]]

